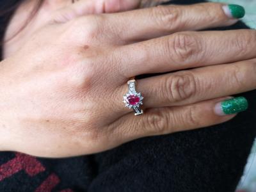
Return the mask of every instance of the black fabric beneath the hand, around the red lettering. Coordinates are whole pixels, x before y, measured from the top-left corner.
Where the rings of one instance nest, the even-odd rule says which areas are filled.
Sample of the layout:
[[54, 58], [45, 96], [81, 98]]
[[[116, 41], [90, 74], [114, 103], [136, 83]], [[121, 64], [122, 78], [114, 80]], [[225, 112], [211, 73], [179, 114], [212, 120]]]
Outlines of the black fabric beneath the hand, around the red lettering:
[[[238, 22], [221, 29], [240, 28], [247, 27]], [[225, 124], [143, 138], [94, 156], [37, 159], [45, 170], [33, 177], [21, 171], [1, 180], [0, 167], [0, 191], [35, 191], [52, 173], [60, 182], [50, 191], [234, 191], [256, 134], [256, 92], [241, 95], [248, 111]], [[0, 164], [13, 158], [1, 153]]]

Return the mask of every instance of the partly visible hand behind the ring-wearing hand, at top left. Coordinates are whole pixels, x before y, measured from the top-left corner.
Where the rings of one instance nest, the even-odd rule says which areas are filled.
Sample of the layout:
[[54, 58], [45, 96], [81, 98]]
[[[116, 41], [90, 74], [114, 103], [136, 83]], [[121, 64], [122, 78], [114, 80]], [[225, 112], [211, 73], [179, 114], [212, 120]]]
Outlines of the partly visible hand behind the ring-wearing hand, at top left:
[[[25, 1], [15, 13], [15, 17], [6, 31], [4, 58], [19, 50], [35, 31], [46, 24], [68, 22], [68, 20], [88, 14], [145, 8], [161, 2], [164, 0], [44, 0], [37, 10], [38, 1]], [[31, 13], [33, 17], [31, 17]]]

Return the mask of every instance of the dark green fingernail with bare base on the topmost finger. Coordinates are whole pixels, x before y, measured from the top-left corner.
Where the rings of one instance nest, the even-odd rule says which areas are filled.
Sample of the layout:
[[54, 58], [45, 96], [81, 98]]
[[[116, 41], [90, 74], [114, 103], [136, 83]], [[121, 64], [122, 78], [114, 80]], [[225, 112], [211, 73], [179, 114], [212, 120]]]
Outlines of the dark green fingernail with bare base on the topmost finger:
[[223, 10], [225, 14], [232, 19], [240, 19], [245, 15], [243, 6], [238, 4], [227, 4], [223, 6]]

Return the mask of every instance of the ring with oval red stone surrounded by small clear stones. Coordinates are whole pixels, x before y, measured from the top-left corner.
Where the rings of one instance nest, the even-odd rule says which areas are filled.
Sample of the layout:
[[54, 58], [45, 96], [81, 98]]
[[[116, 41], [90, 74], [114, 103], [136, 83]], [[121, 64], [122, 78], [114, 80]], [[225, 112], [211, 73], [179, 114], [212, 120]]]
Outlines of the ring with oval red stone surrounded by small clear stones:
[[142, 105], [143, 97], [141, 93], [137, 93], [135, 89], [135, 79], [127, 81], [128, 84], [128, 92], [124, 95], [124, 103], [125, 107], [129, 109], [133, 109], [134, 115], [143, 114], [143, 110], [140, 109], [140, 105]]

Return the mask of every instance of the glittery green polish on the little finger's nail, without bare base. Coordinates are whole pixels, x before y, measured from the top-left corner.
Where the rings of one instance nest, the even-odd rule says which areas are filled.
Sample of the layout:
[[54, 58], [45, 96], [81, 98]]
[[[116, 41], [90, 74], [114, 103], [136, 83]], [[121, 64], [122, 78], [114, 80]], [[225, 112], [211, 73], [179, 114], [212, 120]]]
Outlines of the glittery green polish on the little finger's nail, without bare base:
[[231, 115], [245, 111], [248, 108], [248, 102], [244, 97], [236, 97], [234, 99], [228, 99], [221, 102], [221, 108], [223, 113]]

